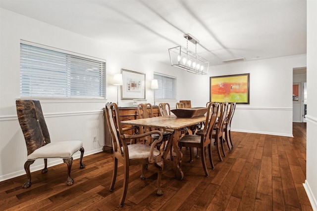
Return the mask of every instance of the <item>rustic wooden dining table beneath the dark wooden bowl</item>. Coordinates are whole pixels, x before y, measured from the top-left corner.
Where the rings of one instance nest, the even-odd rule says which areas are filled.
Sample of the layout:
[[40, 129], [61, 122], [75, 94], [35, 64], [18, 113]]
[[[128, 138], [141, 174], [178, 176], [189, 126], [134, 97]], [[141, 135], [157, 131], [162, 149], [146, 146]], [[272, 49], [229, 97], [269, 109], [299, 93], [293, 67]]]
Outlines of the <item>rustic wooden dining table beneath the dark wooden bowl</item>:
[[[173, 157], [172, 161], [172, 167], [175, 172], [175, 178], [178, 180], [182, 180], [184, 178], [184, 173], [181, 169], [181, 162], [183, 154], [178, 146], [178, 141], [181, 137], [181, 131], [185, 127], [189, 127], [191, 125], [195, 125], [198, 123], [202, 123], [206, 121], [206, 116], [198, 116], [198, 117], [191, 117], [191, 118], [179, 118], [175, 115], [168, 115], [168, 116], [160, 116], [160, 117], [152, 117], [152, 118], [146, 118], [146, 119], [137, 119], [137, 120], [127, 120], [122, 121], [121, 124], [124, 125], [132, 125], [132, 126], [138, 126], [138, 127], [151, 127], [151, 128], [160, 128], [160, 129], [172, 129], [174, 132], [171, 136], [171, 141], [173, 151], [175, 152], [176, 156]], [[165, 152], [168, 152], [168, 149], [171, 146], [167, 146], [167, 150]], [[163, 154], [162, 158], [166, 159], [166, 154]]]

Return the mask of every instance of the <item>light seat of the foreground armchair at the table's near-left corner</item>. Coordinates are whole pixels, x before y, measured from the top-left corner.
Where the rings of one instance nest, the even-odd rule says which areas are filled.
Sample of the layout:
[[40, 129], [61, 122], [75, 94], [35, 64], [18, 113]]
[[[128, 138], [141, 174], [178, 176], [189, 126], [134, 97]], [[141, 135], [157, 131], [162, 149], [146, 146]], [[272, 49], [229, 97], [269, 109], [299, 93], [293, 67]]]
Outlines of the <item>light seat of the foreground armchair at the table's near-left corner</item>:
[[[130, 144], [130, 145], [128, 145], [129, 159], [149, 158], [150, 149], [151, 149], [151, 146], [149, 146], [149, 145], [145, 145], [145, 144]], [[122, 147], [121, 147], [121, 150], [123, 151]], [[159, 150], [154, 148], [154, 150], [153, 150], [154, 157], [159, 156], [159, 154], [160, 154]]]

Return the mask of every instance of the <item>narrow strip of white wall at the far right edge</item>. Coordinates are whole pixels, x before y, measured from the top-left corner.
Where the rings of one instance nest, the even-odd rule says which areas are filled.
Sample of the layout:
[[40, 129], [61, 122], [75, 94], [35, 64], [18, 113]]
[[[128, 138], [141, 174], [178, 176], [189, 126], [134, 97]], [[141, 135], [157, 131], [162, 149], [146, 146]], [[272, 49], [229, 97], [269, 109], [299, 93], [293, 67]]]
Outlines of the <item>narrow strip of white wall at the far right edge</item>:
[[317, 211], [317, 1], [307, 1], [307, 145], [306, 193]]

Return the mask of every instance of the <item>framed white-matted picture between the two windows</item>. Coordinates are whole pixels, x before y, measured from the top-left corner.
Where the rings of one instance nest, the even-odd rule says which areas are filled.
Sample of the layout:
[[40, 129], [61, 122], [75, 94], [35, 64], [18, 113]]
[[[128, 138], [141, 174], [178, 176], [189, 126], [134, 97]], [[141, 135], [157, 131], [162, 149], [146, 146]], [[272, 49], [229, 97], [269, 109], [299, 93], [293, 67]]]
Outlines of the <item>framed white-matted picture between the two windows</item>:
[[125, 69], [121, 69], [121, 72], [121, 99], [145, 99], [145, 74]]

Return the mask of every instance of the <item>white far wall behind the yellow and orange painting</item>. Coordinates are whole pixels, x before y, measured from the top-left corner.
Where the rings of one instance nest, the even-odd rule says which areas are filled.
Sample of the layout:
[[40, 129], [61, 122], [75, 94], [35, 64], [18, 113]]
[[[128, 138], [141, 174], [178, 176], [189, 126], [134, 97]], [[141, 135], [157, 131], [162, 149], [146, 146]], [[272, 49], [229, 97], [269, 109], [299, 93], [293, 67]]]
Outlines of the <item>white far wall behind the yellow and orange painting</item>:
[[[303, 54], [210, 67], [209, 77], [250, 73], [250, 104], [237, 105], [232, 130], [292, 136], [293, 68], [305, 66]], [[184, 83], [191, 85], [183, 88], [182, 98], [205, 105], [210, 78], [189, 74]]]

